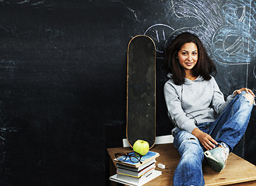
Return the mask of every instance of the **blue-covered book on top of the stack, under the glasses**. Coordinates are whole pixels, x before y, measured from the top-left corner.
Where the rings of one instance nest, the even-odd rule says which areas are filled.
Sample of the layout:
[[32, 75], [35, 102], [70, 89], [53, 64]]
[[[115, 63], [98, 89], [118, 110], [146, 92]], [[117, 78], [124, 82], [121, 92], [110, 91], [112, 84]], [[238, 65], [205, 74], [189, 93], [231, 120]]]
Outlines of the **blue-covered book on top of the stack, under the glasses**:
[[[135, 156], [135, 153], [129, 153], [131, 155]], [[140, 161], [142, 162], [142, 164], [146, 164], [147, 162], [149, 162], [150, 160], [156, 159], [156, 157], [159, 157], [160, 153], [156, 153], [153, 151], [149, 151], [145, 156], [142, 156], [142, 158], [140, 159]], [[132, 162], [132, 160], [130, 160], [129, 157], [126, 158], [126, 160], [124, 160], [125, 157], [118, 157], [114, 159], [114, 161], [116, 161], [118, 164], [124, 164], [127, 165], [129, 167], [140, 167], [142, 164], [140, 162]]]

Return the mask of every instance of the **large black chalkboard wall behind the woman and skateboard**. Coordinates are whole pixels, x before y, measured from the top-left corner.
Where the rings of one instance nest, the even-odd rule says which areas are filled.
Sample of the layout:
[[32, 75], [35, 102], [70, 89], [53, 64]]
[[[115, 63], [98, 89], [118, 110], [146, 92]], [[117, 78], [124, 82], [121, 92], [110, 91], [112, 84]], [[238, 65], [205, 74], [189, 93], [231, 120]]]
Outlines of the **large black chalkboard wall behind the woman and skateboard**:
[[[224, 95], [256, 91], [252, 0], [2, 0], [0, 184], [104, 185], [106, 148], [125, 137], [128, 41], [156, 43], [156, 136], [173, 128], [163, 99], [165, 50], [197, 34]], [[256, 113], [235, 150], [256, 164]], [[100, 177], [100, 179], [99, 179]]]

